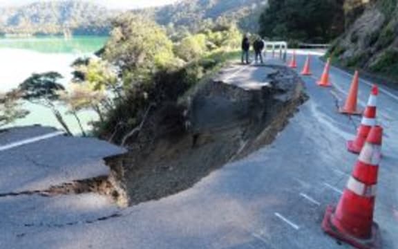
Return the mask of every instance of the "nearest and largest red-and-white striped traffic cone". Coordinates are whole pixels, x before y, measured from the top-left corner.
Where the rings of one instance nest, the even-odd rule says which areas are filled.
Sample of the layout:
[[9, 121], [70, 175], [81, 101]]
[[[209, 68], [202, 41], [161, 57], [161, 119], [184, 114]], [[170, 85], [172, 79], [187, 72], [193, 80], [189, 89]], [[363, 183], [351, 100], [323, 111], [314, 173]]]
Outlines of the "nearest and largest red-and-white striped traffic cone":
[[323, 230], [359, 249], [380, 248], [379, 225], [373, 222], [383, 129], [372, 127], [336, 208], [326, 209]]

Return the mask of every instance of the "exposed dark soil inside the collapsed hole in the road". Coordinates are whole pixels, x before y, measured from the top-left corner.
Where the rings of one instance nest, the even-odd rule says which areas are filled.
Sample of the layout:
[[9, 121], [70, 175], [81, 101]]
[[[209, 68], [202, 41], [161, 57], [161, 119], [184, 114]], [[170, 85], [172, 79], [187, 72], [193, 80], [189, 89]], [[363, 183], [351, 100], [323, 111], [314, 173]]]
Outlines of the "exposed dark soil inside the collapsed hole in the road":
[[151, 113], [129, 152], [105, 158], [122, 206], [187, 190], [215, 169], [271, 143], [305, 101], [296, 73], [277, 67], [271, 86], [245, 91], [211, 81], [184, 106]]

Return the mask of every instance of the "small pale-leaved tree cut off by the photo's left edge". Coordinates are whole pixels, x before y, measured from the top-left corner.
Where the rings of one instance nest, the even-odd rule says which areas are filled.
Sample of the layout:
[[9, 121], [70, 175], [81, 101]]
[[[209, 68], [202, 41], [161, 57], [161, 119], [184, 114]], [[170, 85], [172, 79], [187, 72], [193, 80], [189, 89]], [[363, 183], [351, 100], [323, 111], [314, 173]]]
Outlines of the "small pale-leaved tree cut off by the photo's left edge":
[[18, 91], [0, 93], [0, 127], [15, 122], [19, 118], [25, 118], [29, 111], [21, 109], [19, 102], [21, 94]]

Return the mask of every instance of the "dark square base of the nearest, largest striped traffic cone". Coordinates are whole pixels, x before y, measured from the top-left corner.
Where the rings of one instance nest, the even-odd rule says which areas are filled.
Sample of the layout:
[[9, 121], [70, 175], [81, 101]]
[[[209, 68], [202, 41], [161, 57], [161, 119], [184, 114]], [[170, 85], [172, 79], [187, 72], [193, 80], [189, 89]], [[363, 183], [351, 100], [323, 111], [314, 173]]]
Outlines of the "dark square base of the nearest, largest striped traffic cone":
[[370, 239], [357, 239], [346, 234], [343, 231], [337, 230], [331, 222], [332, 215], [334, 213], [334, 207], [332, 205], [326, 208], [325, 216], [322, 222], [322, 229], [334, 239], [349, 243], [351, 246], [359, 249], [379, 249], [381, 248], [381, 237], [379, 225], [373, 223], [372, 225], [372, 237]]

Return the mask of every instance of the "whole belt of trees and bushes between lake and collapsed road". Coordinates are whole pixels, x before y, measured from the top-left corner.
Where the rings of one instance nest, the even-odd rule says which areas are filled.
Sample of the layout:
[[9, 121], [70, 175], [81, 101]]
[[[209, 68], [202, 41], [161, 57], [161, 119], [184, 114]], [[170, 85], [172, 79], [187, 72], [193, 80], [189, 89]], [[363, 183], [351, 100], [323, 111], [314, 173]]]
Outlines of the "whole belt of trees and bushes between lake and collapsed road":
[[[74, 116], [85, 136], [79, 112], [90, 110], [98, 117], [92, 123], [95, 135], [122, 143], [139, 132], [151, 111], [177, 106], [206, 75], [236, 56], [241, 38], [236, 24], [220, 23], [173, 40], [166, 28], [142, 15], [121, 15], [99, 57], [73, 62], [71, 82], [61, 84], [57, 72], [35, 73], [11, 92], [18, 93], [15, 98], [3, 95], [4, 122], [23, 118], [19, 107], [26, 100], [50, 109], [68, 133], [64, 115]], [[61, 105], [67, 113], [59, 111]]]

